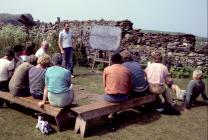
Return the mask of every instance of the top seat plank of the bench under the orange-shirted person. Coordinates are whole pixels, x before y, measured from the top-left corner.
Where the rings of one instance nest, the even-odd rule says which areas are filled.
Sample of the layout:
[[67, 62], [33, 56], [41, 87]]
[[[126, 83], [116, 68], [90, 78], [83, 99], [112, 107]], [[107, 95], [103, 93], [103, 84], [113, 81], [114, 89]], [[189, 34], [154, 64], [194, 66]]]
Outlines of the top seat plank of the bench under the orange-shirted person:
[[153, 102], [156, 95], [151, 94], [143, 97], [133, 98], [123, 103], [109, 103], [99, 101], [92, 104], [71, 108], [72, 111], [79, 114], [84, 120], [90, 120], [110, 113], [122, 111], [145, 103]]

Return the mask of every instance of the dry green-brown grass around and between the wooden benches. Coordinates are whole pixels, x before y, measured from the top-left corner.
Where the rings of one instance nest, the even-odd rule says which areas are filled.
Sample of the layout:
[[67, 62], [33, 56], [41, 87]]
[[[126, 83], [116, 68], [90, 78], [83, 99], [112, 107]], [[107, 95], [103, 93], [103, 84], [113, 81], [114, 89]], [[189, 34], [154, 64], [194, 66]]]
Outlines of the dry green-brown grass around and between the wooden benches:
[[[74, 84], [80, 84], [93, 93], [103, 93], [101, 73], [93, 75], [90, 69], [75, 68]], [[84, 81], [84, 82], [83, 82]], [[175, 79], [185, 88], [189, 79]], [[207, 85], [207, 83], [206, 83]], [[201, 100], [201, 98], [199, 98]], [[15, 109], [14, 109], [15, 108]], [[127, 110], [119, 113], [119, 129], [110, 132], [105, 123], [90, 123], [86, 140], [207, 140], [208, 110], [207, 106], [198, 106], [180, 116], [162, 115], [158, 112], [142, 113]], [[0, 108], [1, 140], [81, 140], [74, 134], [74, 120], [69, 130], [55, 132], [49, 136], [42, 135], [35, 128], [37, 118], [28, 109], [14, 106]]]

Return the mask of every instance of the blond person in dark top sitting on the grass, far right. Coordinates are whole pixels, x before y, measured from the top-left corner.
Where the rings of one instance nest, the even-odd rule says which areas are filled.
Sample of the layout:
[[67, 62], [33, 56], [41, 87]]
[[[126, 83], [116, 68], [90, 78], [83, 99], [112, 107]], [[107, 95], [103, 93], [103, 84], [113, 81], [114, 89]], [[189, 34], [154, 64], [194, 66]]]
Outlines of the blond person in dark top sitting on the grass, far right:
[[196, 100], [199, 94], [201, 94], [206, 104], [208, 104], [208, 97], [206, 96], [205, 84], [202, 78], [203, 75], [201, 70], [195, 70], [193, 72], [192, 80], [189, 81], [186, 87], [186, 92], [184, 94], [185, 111], [191, 108], [191, 104]]

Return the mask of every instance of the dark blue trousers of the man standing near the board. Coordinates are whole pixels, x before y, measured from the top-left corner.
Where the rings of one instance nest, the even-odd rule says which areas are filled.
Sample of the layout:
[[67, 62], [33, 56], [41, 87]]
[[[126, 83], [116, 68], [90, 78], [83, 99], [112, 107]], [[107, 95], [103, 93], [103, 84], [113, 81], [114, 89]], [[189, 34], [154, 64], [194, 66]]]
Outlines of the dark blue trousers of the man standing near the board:
[[68, 47], [68, 48], [63, 48], [64, 49], [64, 53], [62, 54], [63, 57], [63, 67], [65, 69], [68, 69], [71, 71], [71, 74], [73, 75], [73, 48], [72, 47]]

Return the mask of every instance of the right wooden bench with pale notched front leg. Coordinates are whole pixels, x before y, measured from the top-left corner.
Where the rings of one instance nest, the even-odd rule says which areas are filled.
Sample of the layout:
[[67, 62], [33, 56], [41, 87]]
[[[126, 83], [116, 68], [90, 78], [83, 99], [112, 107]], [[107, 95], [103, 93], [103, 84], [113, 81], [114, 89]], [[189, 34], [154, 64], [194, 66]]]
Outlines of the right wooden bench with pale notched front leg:
[[94, 118], [102, 117], [111, 113], [123, 111], [142, 104], [154, 102], [155, 94], [129, 99], [123, 103], [109, 103], [101, 100], [88, 105], [73, 107], [71, 110], [77, 114], [74, 131], [80, 132], [81, 137], [85, 136], [87, 123]]

